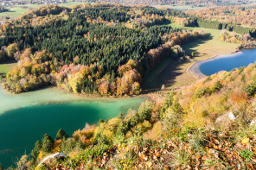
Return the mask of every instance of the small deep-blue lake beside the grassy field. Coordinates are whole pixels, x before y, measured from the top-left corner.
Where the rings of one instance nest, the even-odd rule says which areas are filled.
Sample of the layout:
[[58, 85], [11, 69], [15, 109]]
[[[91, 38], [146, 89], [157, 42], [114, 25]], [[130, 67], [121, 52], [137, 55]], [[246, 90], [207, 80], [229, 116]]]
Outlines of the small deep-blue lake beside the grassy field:
[[[213, 59], [196, 63], [202, 74], [209, 76], [220, 71], [231, 71], [240, 66], [248, 66], [256, 60], [256, 49], [246, 49], [235, 54], [222, 54]], [[196, 66], [195, 65], [195, 66]]]

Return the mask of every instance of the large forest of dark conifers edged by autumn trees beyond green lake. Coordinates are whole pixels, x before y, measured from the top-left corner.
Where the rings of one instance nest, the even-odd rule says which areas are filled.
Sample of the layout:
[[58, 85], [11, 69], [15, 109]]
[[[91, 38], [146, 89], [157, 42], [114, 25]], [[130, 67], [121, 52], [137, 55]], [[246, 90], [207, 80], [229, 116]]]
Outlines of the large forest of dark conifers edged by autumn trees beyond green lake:
[[[146, 72], [165, 57], [184, 55], [180, 45], [207, 37], [158, 25], [171, 16], [187, 15], [109, 4], [34, 9], [2, 27], [0, 60], [18, 60], [3, 87], [15, 93], [58, 85], [74, 93], [138, 95]], [[161, 53], [149, 54], [151, 49]]]

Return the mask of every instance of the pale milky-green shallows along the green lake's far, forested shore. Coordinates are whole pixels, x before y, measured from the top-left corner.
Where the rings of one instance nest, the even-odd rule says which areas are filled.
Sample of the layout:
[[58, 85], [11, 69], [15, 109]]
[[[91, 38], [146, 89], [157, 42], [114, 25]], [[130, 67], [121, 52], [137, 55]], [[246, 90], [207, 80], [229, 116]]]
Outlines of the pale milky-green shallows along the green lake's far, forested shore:
[[28, 91], [20, 94], [11, 94], [5, 89], [0, 87], [0, 99], [4, 98], [3, 102], [0, 103], [0, 116], [9, 112], [10, 110], [16, 110], [28, 106], [35, 105], [50, 105], [50, 104], [69, 104], [73, 102], [86, 102], [86, 103], [115, 103], [118, 100], [128, 101], [137, 100], [139, 98], [148, 98], [142, 94], [136, 97], [127, 98], [104, 98], [104, 97], [85, 97], [75, 95], [64, 91], [60, 87], [50, 86], [42, 88], [36, 91]]

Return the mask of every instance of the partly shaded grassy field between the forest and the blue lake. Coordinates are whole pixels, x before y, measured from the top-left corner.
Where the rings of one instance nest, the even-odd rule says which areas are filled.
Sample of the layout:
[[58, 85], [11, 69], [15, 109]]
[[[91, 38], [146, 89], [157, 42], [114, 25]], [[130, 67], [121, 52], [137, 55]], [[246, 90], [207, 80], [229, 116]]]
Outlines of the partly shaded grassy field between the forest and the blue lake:
[[[170, 24], [175, 28], [182, 28], [180, 25]], [[239, 44], [227, 43], [220, 40], [221, 30], [210, 28], [189, 28], [192, 30], [202, 29], [210, 35], [207, 40], [197, 40], [183, 45], [182, 48], [186, 54], [194, 52], [193, 60], [167, 60], [164, 64], [157, 66], [149, 73], [149, 78], [146, 79], [150, 88], [148, 91], [159, 91], [162, 85], [166, 89], [176, 88], [179, 85], [186, 85], [195, 82], [195, 78], [187, 72], [189, 66], [195, 61], [205, 60], [218, 54], [228, 54], [234, 52]], [[168, 62], [168, 63], [167, 63]], [[157, 70], [157, 71], [155, 71]], [[162, 71], [162, 72], [159, 72]], [[156, 83], [154, 83], [156, 82]]]

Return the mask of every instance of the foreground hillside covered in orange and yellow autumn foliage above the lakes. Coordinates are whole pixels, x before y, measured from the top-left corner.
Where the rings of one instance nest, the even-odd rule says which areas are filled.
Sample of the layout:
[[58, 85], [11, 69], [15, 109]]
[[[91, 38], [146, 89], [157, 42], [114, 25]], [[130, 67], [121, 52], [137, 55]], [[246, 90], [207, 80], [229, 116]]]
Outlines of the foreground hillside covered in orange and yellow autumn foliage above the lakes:
[[[18, 167], [36, 169], [255, 169], [256, 65], [219, 72], [55, 141], [45, 135]], [[29, 161], [30, 160], [30, 161]]]

